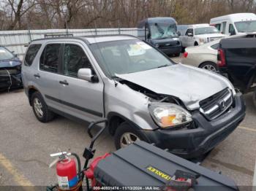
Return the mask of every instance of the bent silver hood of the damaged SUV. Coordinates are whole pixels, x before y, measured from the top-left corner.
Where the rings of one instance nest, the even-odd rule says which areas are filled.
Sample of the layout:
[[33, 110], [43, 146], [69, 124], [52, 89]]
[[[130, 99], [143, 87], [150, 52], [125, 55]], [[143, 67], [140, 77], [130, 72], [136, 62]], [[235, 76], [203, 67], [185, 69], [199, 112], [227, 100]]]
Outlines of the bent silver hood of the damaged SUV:
[[189, 110], [198, 109], [199, 101], [226, 87], [233, 89], [233, 85], [225, 77], [181, 63], [131, 74], [116, 74], [116, 77], [155, 93], [176, 96]]

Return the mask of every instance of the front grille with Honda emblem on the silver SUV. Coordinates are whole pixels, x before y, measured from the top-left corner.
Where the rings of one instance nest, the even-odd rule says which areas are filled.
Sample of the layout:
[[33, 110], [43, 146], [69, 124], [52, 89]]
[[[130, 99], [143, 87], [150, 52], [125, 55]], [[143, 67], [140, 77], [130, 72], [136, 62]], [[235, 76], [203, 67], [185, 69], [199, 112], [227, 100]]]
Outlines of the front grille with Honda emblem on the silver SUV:
[[223, 114], [233, 104], [230, 89], [225, 89], [199, 102], [200, 112], [208, 119], [214, 120]]

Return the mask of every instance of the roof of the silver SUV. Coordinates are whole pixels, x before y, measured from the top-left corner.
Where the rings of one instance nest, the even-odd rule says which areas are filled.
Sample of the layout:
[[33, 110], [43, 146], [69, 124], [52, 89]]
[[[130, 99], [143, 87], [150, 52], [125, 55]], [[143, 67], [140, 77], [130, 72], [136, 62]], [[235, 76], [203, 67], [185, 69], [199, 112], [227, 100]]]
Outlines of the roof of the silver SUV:
[[35, 39], [31, 44], [43, 43], [43, 42], [54, 42], [54, 41], [72, 41], [73, 39], [82, 40], [86, 44], [94, 44], [99, 42], [111, 42], [118, 40], [132, 40], [139, 39], [136, 36], [127, 34], [115, 34], [115, 35], [91, 35], [91, 36], [63, 36], [63, 37], [47, 37], [45, 39]]

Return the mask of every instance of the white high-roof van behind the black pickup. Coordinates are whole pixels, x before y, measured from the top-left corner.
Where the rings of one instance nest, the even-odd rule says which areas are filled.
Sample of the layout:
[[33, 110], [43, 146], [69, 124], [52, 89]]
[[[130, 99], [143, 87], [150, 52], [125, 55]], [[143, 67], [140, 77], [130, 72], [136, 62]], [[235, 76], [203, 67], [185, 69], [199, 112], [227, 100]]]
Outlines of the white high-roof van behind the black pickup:
[[222, 34], [235, 35], [256, 31], [256, 15], [254, 13], [236, 13], [215, 17], [210, 20]]

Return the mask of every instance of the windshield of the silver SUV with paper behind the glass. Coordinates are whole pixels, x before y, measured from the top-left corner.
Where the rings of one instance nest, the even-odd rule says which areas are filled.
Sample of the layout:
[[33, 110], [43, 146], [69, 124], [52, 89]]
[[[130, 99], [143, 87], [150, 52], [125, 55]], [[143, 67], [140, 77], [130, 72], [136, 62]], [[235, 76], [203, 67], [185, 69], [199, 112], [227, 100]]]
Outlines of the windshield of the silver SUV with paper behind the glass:
[[101, 42], [91, 44], [90, 48], [108, 77], [173, 65], [168, 58], [140, 40]]

